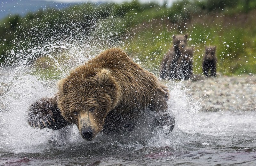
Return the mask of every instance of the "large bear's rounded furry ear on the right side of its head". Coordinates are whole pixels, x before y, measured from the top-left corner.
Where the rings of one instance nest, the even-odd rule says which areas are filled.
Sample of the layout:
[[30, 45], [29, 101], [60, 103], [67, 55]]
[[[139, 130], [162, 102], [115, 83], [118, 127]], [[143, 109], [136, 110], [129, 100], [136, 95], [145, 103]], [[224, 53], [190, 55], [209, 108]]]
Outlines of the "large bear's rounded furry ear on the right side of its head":
[[104, 91], [108, 93], [113, 103], [115, 103], [119, 89], [111, 72], [108, 69], [101, 69], [95, 76], [95, 79], [98, 86], [103, 88]]

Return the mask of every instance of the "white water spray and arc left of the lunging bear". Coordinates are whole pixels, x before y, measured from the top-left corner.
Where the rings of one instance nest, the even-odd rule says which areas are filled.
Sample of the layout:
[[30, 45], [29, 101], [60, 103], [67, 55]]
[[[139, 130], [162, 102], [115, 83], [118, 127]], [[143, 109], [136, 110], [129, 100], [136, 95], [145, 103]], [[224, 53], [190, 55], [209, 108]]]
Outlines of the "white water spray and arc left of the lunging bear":
[[[14, 152], [37, 152], [48, 148], [49, 141], [54, 142], [60, 139], [60, 133], [64, 133], [62, 130], [38, 130], [29, 127], [26, 117], [28, 107], [42, 97], [53, 96], [56, 93], [57, 80], [64, 77], [71, 68], [81, 65], [91, 56], [95, 56], [92, 52], [97, 53], [99, 50], [92, 51], [93, 49], [89, 45], [83, 45], [82, 48], [69, 43], [47, 44], [41, 48], [23, 51], [24, 54], [27, 54], [27, 58], [22, 60], [17, 67], [1, 70], [1, 73], [9, 73], [8, 76], [3, 76], [6, 93], [1, 95], [1, 149]], [[62, 50], [65, 55], [58, 55], [56, 50]], [[50, 59], [53, 63], [51, 65], [55, 67], [53, 70], [56, 70], [58, 75], [49, 79], [48, 73], [44, 73], [44, 70], [37, 66], [37, 62], [28, 63], [28, 59], [37, 54], [40, 54], [41, 58]], [[60, 62], [61, 56], [64, 56], [62, 60], [66, 63]], [[73, 134], [74, 132], [75, 134]], [[76, 128], [71, 133], [80, 136]], [[73, 139], [77, 139], [77, 137]], [[43, 149], [35, 148], [35, 146], [42, 146]]]

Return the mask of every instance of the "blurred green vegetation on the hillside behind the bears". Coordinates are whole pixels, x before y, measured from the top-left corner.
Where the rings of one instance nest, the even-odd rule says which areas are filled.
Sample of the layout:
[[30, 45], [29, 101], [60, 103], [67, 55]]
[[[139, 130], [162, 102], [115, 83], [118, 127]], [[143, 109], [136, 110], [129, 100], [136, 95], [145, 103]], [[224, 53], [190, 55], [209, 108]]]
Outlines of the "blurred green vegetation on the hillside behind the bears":
[[[46, 41], [83, 41], [93, 34], [116, 41], [135, 61], [158, 74], [161, 59], [172, 47], [172, 35], [188, 34], [188, 45], [195, 50], [194, 73], [202, 73], [204, 47], [216, 45], [218, 73], [255, 74], [255, 9], [254, 0], [183, 0], [170, 7], [135, 0], [14, 15], [0, 21], [0, 62], [15, 65], [26, 58], [22, 51], [14, 54], [12, 50], [33, 49]], [[77, 38], [81, 33], [83, 39]], [[37, 63], [47, 61], [38, 57], [29, 58]]]

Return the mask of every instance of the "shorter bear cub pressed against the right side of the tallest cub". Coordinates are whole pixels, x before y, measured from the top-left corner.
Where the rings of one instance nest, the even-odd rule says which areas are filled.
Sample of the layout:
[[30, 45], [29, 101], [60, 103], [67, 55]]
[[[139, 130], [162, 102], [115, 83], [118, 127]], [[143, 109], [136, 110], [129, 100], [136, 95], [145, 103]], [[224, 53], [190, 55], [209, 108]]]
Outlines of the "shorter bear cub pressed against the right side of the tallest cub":
[[188, 80], [193, 75], [193, 52], [194, 48], [185, 47], [181, 53], [180, 59], [177, 62], [177, 75], [178, 80]]

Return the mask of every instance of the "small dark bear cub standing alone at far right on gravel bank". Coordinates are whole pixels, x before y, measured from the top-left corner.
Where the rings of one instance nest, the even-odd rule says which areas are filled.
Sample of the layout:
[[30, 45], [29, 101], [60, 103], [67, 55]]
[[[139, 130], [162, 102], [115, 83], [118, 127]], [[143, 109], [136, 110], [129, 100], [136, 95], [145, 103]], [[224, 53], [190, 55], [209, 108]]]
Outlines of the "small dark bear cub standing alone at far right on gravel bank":
[[216, 52], [216, 46], [205, 47], [205, 54], [204, 54], [203, 64], [202, 64], [202, 68], [205, 76], [216, 77], [217, 58], [216, 58], [215, 52]]

